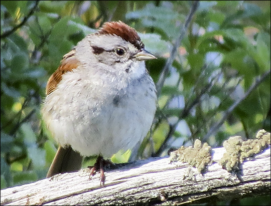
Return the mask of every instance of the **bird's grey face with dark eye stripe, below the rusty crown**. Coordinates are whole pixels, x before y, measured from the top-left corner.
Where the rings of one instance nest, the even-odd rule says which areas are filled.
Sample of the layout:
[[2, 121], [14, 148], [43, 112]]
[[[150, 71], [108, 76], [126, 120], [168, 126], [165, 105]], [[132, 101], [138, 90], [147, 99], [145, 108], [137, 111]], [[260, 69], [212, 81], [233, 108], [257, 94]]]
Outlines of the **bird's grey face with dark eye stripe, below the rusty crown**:
[[90, 35], [87, 41], [97, 65], [100, 65], [103, 70], [117, 71], [116, 74], [128, 75], [131, 79], [138, 78], [146, 72], [144, 61], [134, 58], [134, 55], [141, 50], [121, 37], [111, 34]]

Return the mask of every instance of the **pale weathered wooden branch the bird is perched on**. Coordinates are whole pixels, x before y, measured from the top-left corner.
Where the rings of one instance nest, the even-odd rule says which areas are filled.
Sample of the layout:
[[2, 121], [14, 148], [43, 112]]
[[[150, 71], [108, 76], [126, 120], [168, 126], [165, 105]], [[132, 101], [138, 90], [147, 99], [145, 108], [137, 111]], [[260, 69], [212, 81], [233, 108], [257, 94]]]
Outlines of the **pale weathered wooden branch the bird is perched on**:
[[82, 169], [6, 188], [1, 205], [180, 205], [270, 194], [270, 146], [243, 162], [241, 179], [217, 163], [225, 149], [213, 151], [204, 175], [169, 157], [151, 158], [107, 170], [105, 186]]

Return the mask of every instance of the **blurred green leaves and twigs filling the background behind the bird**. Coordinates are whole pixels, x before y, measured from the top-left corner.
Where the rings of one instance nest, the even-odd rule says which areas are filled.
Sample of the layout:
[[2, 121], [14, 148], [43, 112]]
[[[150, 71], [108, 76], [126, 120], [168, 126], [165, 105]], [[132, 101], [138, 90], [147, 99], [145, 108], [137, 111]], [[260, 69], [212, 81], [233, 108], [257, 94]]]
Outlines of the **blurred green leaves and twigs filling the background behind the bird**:
[[[40, 115], [46, 82], [62, 56], [106, 21], [135, 28], [158, 57], [147, 62], [162, 88], [156, 117], [132, 158], [165, 156], [196, 138], [219, 147], [232, 135], [270, 131], [270, 1], [200, 1], [161, 79], [192, 4], [1, 1], [1, 188], [45, 178], [57, 148]], [[130, 154], [119, 152], [112, 160], [128, 161]], [[84, 166], [89, 164], [87, 158]], [[270, 197], [237, 203], [270, 205]]]

